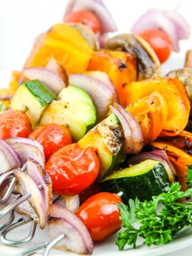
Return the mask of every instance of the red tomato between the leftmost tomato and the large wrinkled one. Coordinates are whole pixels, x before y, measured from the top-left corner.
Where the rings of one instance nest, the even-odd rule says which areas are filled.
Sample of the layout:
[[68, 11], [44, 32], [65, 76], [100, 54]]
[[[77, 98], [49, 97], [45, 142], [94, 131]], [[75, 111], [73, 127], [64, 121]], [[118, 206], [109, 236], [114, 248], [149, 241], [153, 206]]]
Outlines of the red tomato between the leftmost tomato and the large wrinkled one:
[[41, 143], [46, 161], [55, 151], [71, 144], [71, 135], [67, 127], [59, 124], [40, 125], [28, 135], [28, 138]]

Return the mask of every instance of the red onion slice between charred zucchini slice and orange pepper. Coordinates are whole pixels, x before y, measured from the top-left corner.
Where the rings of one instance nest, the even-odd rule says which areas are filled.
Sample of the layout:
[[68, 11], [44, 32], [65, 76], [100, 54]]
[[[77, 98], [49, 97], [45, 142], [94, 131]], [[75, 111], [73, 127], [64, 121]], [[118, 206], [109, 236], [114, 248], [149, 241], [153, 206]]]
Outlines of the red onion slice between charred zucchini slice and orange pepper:
[[118, 117], [124, 131], [122, 151], [124, 154], [137, 154], [143, 148], [141, 128], [135, 118], [121, 105], [115, 103], [111, 111]]

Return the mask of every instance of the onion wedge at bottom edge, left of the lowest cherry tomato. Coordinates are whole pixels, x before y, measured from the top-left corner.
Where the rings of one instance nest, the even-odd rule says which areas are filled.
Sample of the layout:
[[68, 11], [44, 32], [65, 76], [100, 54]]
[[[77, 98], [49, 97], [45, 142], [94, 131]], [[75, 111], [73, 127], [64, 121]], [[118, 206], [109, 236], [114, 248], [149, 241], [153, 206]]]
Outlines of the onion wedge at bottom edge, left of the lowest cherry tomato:
[[56, 204], [50, 207], [48, 227], [51, 240], [64, 234], [64, 238], [54, 247], [69, 250], [78, 254], [90, 255], [93, 252], [93, 241], [83, 222], [71, 211]]

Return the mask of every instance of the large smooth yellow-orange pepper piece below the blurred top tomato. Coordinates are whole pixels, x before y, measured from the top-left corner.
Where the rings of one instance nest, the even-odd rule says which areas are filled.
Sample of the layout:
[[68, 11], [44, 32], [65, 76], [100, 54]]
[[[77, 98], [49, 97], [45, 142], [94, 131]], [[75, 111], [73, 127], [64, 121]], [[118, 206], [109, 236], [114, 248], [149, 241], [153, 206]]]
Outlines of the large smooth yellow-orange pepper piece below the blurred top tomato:
[[74, 28], [58, 23], [38, 38], [23, 68], [45, 67], [54, 58], [67, 75], [81, 73], [87, 69], [92, 52], [91, 46]]

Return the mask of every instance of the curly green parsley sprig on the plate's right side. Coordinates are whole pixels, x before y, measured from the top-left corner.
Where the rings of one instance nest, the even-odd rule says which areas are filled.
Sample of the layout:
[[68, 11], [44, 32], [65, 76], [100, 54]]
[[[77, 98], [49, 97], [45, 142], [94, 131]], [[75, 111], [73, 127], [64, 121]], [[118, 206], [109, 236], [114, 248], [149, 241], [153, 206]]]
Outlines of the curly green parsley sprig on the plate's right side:
[[[187, 167], [189, 188], [186, 191], [181, 191], [180, 184], [173, 182], [167, 193], [154, 196], [151, 201], [140, 202], [136, 198], [135, 201], [130, 199], [128, 205], [119, 203], [124, 228], [118, 232], [116, 245], [119, 250], [125, 245], [136, 249], [138, 237], [142, 237], [143, 244], [148, 246], [163, 245], [171, 242], [184, 227], [192, 227], [192, 203], [178, 202], [178, 199], [192, 195], [192, 165]], [[161, 210], [158, 210], [159, 206]]]

